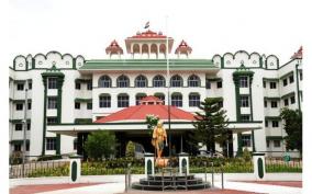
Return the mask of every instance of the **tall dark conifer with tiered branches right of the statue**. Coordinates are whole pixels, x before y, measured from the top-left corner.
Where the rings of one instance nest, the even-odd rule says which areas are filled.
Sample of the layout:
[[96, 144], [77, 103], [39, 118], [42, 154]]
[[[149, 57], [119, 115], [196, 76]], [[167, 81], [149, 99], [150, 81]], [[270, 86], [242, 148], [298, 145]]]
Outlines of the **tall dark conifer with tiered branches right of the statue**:
[[229, 119], [226, 111], [221, 107], [222, 102], [222, 98], [207, 98], [200, 103], [201, 112], [196, 113], [197, 121], [193, 122], [196, 129], [191, 138], [197, 145], [198, 142], [205, 145], [207, 151], [211, 153], [215, 152], [215, 142], [223, 147], [229, 139]]

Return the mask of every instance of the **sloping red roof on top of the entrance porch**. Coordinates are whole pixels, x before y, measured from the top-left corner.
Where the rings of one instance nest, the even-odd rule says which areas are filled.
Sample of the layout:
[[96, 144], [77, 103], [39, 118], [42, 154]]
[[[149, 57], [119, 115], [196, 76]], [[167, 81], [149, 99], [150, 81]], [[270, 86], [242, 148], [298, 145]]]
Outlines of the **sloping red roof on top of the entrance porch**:
[[[147, 96], [149, 100], [151, 96]], [[155, 98], [157, 100], [157, 98]], [[159, 99], [158, 99], [159, 100]], [[121, 122], [121, 121], [146, 121], [146, 116], [153, 114], [160, 119], [168, 119], [168, 105], [163, 104], [141, 104], [123, 109], [109, 116], [97, 119], [94, 123]], [[192, 113], [182, 111], [176, 106], [170, 106], [170, 119], [172, 121], [194, 121]]]

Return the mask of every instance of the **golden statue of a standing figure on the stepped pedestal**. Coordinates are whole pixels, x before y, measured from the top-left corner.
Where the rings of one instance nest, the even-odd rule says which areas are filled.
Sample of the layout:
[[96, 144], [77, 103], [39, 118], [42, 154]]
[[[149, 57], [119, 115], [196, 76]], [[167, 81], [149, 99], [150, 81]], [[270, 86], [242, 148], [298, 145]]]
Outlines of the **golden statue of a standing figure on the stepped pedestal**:
[[[166, 140], [166, 145], [164, 144], [165, 140]], [[163, 126], [163, 122], [161, 121], [158, 121], [157, 126], [153, 130], [152, 145], [157, 150], [157, 158], [158, 159], [161, 158], [161, 153], [163, 153], [164, 147], [168, 146], [167, 133], [166, 133], [166, 129]]]

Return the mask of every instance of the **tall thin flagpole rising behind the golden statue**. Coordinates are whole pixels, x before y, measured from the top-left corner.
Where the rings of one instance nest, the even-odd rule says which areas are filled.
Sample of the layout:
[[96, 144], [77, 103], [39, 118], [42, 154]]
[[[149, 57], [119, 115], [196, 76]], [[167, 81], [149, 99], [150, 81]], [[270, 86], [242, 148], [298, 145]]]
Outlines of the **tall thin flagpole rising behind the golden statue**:
[[[171, 115], [170, 115], [170, 70], [169, 70], [169, 33], [168, 33], [168, 15], [166, 15], [166, 61], [167, 61], [167, 95], [168, 95], [168, 134], [169, 134], [169, 158], [171, 159]], [[171, 167], [171, 162], [170, 162]]]

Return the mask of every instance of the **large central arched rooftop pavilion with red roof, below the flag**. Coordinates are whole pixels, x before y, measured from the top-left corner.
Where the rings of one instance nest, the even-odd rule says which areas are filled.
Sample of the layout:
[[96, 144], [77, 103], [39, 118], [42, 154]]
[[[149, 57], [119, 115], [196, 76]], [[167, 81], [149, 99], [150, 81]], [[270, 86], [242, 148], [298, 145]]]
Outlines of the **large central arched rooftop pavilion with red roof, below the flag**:
[[[168, 37], [168, 53], [171, 52], [174, 38]], [[137, 32], [125, 39], [126, 52], [133, 58], [166, 58], [167, 36], [161, 32]]]

